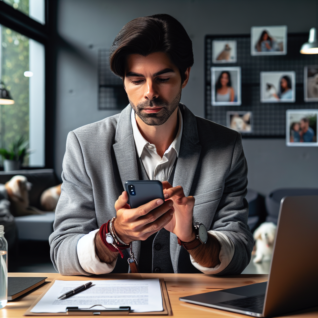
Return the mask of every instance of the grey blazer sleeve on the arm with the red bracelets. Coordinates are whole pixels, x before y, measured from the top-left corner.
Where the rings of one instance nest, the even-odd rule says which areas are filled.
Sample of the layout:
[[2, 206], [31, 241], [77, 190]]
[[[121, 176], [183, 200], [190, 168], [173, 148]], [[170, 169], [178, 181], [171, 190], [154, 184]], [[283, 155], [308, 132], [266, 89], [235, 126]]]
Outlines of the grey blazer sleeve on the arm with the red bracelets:
[[49, 237], [51, 260], [62, 275], [91, 275], [79, 264], [77, 243], [98, 229], [91, 179], [87, 175], [79, 140], [71, 131], [63, 159], [61, 196]]

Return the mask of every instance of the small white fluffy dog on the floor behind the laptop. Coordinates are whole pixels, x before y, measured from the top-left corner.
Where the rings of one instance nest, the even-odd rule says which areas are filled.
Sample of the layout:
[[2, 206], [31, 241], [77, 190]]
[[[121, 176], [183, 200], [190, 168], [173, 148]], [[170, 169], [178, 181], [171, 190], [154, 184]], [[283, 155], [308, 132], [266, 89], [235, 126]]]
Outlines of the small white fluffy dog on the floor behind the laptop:
[[264, 222], [255, 230], [253, 234], [253, 237], [256, 240], [256, 256], [253, 260], [254, 263], [271, 260], [276, 227], [277, 226], [272, 222]]

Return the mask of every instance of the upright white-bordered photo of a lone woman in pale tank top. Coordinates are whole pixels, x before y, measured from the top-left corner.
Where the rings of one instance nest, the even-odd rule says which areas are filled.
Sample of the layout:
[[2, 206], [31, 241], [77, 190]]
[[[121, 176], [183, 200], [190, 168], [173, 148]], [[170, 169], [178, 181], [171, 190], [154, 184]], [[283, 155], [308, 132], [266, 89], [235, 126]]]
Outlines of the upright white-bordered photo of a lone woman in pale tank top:
[[211, 104], [241, 105], [240, 67], [211, 67]]

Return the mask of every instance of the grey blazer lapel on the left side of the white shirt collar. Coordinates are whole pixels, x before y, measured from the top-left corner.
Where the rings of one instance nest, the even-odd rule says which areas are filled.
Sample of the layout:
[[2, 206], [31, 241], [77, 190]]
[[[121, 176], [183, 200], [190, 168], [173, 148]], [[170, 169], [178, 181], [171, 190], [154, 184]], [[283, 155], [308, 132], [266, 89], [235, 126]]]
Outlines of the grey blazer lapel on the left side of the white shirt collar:
[[127, 180], [139, 180], [136, 160], [135, 141], [131, 127], [131, 106], [128, 105], [120, 114], [116, 127], [115, 143], [113, 145], [116, 162], [125, 189]]

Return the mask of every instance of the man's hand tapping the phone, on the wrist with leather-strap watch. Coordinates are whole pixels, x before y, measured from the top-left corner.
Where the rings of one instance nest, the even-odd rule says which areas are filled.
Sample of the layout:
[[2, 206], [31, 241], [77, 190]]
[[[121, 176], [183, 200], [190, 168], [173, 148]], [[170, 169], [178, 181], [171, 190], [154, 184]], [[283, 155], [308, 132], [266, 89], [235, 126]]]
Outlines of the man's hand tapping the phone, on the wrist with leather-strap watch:
[[183, 242], [195, 239], [193, 230], [193, 207], [195, 198], [186, 197], [181, 186], [172, 187], [168, 181], [162, 182], [165, 200], [171, 199], [175, 213], [172, 220], [164, 227], [167, 231], [176, 234]]

